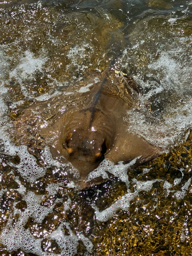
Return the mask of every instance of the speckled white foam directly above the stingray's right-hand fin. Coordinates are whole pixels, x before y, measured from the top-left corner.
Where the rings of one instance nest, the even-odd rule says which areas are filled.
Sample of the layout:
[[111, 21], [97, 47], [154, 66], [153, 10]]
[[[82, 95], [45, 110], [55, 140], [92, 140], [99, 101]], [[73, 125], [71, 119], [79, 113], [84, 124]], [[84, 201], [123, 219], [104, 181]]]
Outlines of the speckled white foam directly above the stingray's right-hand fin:
[[[189, 102], [180, 107], [169, 109], [169, 116], [164, 119], [154, 119], [153, 114], [131, 110], [127, 112], [129, 127], [127, 131], [136, 133], [151, 144], [162, 147], [165, 152], [170, 146], [188, 136], [192, 127], [192, 105]], [[151, 115], [151, 116], [150, 116]], [[158, 122], [157, 122], [158, 121]]]

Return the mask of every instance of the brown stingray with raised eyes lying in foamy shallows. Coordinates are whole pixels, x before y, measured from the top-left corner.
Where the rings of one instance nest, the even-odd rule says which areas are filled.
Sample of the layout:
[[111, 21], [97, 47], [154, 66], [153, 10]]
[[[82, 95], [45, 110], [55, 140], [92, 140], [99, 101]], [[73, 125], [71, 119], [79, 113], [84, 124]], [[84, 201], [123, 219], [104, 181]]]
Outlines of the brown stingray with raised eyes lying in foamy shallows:
[[136, 158], [135, 167], [161, 153], [161, 148], [127, 132], [125, 114], [139, 105], [131, 77], [112, 70], [93, 71], [59, 90], [15, 120], [17, 139], [36, 156], [49, 145], [54, 158], [69, 161], [78, 170], [76, 183], [81, 188], [90, 185], [87, 177], [103, 159], [117, 163]]

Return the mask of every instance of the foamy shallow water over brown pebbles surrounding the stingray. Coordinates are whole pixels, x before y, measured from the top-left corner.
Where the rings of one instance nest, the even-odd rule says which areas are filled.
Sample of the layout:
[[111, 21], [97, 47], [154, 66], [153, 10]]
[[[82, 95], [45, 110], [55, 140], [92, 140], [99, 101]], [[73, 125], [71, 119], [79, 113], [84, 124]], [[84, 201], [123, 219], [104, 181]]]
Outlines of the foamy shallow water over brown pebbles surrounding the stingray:
[[[190, 255], [192, 3], [5, 1], [0, 8], [2, 255]], [[138, 84], [127, 131], [165, 154], [128, 173], [130, 164], [105, 160], [90, 178], [110, 179], [79, 191], [66, 179], [75, 172], [70, 163], [53, 159], [48, 146], [43, 160], [29, 154], [13, 126], [37, 101], [78, 97], [84, 89], [76, 81], [110, 65]]]

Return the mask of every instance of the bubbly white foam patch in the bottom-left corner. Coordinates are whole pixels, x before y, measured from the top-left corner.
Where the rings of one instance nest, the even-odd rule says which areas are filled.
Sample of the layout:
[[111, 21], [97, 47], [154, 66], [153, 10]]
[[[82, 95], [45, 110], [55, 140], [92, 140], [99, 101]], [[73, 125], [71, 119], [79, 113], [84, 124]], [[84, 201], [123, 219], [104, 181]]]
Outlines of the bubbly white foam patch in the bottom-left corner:
[[[24, 212], [20, 212], [18, 209], [14, 210], [14, 214], [19, 213], [19, 219], [15, 223], [15, 227], [12, 226], [12, 218], [9, 218], [6, 228], [3, 229], [0, 237], [0, 241], [9, 248], [9, 251], [22, 249], [25, 252], [32, 252], [37, 255], [47, 255], [47, 252], [42, 252], [41, 241], [42, 239], [35, 238], [29, 231], [25, 229], [24, 225], [28, 221], [29, 217], [33, 217], [35, 222], [41, 223], [42, 220], [47, 217], [48, 214], [52, 212], [52, 207], [41, 206], [40, 202], [42, 196], [35, 195], [32, 191], [29, 191], [27, 195], [23, 197], [23, 200], [27, 202], [27, 208]], [[69, 209], [71, 201], [65, 204], [64, 210]], [[46, 230], [44, 230], [44, 236], [46, 236]], [[79, 238], [75, 236], [72, 232], [70, 236], [66, 236], [62, 228], [62, 222], [57, 230], [49, 234], [49, 238], [56, 240], [58, 246], [62, 249], [60, 255], [74, 255], [77, 251], [77, 245]], [[87, 238], [80, 238], [85, 242], [88, 250], [91, 250], [92, 244]], [[68, 248], [68, 249], [67, 249]], [[55, 255], [54, 253], [49, 253], [49, 255]]]

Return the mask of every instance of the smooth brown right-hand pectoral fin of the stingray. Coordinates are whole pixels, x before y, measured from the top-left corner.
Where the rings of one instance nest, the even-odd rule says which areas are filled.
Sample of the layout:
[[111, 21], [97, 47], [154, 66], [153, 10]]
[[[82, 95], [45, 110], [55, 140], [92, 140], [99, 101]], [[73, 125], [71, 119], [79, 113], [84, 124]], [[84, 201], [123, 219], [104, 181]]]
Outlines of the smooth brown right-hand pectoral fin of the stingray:
[[156, 158], [160, 154], [161, 148], [151, 145], [143, 138], [139, 138], [136, 135], [124, 133], [123, 135], [117, 136], [114, 147], [105, 158], [112, 162], [127, 161], [138, 158], [136, 163], [139, 165]]

